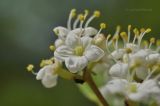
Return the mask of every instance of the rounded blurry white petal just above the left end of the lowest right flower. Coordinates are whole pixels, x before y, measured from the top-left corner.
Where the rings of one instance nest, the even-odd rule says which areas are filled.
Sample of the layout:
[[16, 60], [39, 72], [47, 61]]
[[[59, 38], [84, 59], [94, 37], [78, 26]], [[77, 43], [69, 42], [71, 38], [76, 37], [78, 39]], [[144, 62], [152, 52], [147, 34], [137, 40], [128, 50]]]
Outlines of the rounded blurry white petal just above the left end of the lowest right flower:
[[128, 72], [128, 64], [125, 63], [117, 63], [113, 65], [109, 70], [109, 74], [112, 77], [118, 77], [118, 78], [126, 78], [127, 72]]

